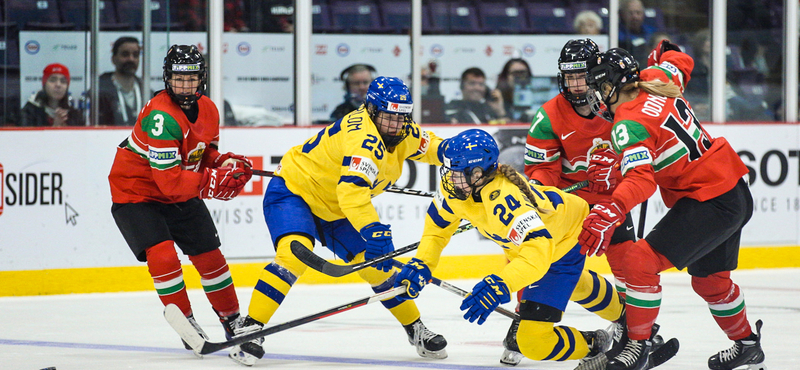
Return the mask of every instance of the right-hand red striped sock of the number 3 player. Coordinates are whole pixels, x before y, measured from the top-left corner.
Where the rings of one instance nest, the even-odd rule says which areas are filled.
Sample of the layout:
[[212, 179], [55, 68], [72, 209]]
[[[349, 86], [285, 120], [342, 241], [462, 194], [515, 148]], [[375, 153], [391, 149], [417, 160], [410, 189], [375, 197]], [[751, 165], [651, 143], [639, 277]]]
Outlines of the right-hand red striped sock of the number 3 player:
[[219, 248], [189, 256], [189, 260], [200, 273], [200, 283], [217, 315], [226, 317], [238, 313], [239, 300], [233, 287], [231, 272]]

